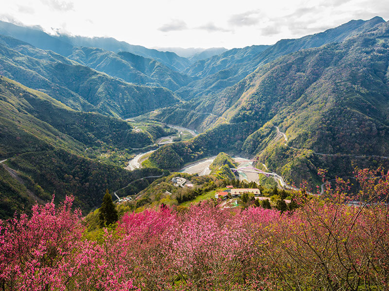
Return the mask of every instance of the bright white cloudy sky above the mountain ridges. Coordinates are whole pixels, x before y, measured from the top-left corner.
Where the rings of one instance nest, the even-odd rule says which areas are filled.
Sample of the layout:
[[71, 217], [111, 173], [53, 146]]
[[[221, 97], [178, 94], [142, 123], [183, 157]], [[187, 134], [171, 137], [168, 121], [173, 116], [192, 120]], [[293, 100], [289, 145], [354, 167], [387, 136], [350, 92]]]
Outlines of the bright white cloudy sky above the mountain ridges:
[[1, 0], [0, 19], [145, 47], [273, 44], [382, 16], [388, 0]]

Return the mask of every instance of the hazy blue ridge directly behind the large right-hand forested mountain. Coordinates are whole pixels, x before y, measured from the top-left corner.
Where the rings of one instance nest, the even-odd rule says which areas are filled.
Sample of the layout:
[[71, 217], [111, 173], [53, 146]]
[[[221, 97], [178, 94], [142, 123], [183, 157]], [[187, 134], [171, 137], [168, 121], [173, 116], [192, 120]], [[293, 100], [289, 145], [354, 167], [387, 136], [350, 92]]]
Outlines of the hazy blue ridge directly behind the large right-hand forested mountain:
[[265, 65], [285, 54], [341, 42], [358, 32], [385, 22], [381, 17], [370, 20], [352, 20], [336, 28], [299, 39], [283, 39], [272, 46], [251, 46], [232, 49], [210, 59], [195, 62], [184, 72], [199, 80], [181, 88], [177, 93], [185, 98], [203, 97], [219, 92], [245, 78], [258, 66]]

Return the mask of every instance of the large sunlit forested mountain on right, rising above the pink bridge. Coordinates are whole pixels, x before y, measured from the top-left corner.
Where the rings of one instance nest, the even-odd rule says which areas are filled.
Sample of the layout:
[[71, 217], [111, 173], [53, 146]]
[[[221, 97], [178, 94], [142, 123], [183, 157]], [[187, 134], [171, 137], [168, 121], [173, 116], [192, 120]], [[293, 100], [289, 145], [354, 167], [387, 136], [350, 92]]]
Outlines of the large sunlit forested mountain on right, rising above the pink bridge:
[[152, 162], [160, 165], [178, 155], [185, 163], [216, 150], [240, 151], [257, 155], [258, 166], [264, 162], [284, 178], [296, 183], [306, 179], [311, 186], [320, 181], [319, 168], [344, 177], [352, 174], [352, 161], [388, 166], [388, 37], [389, 22], [378, 23], [342, 42], [302, 49], [261, 65], [197, 104], [214, 113], [208, 119], [177, 109], [167, 122], [186, 121], [189, 115], [214, 128], [192, 141], [159, 149]]

